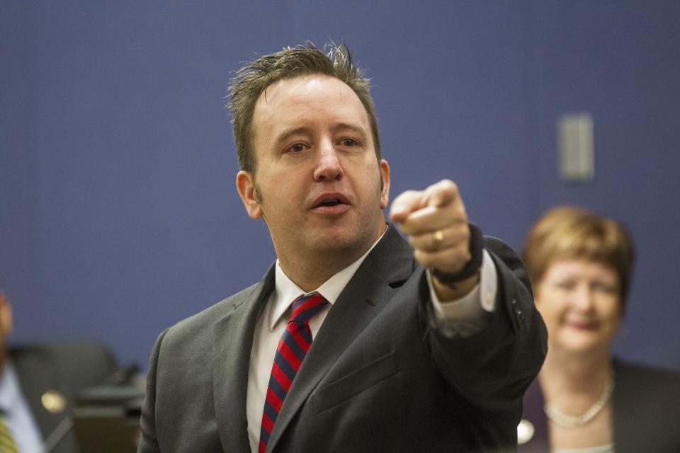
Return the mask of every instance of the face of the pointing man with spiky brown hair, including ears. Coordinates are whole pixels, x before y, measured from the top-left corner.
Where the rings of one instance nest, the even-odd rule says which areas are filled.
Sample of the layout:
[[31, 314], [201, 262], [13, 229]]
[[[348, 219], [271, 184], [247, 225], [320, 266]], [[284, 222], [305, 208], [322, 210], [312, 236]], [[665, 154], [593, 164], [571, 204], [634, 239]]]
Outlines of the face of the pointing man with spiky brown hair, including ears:
[[317, 74], [278, 81], [257, 101], [252, 125], [256, 170], [240, 172], [237, 187], [249, 216], [264, 218], [280, 260], [363, 253], [378, 239], [390, 168], [376, 159], [351, 88]]

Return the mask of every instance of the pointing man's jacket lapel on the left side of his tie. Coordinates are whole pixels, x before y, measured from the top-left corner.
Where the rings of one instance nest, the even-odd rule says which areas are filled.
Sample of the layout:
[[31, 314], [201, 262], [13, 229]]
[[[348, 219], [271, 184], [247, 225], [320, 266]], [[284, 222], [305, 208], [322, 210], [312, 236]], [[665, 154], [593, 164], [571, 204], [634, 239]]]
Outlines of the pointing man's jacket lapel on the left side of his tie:
[[248, 452], [246, 395], [250, 352], [257, 319], [274, 283], [274, 267], [251, 292], [235, 299], [214, 326], [212, 389], [215, 419], [225, 451]]

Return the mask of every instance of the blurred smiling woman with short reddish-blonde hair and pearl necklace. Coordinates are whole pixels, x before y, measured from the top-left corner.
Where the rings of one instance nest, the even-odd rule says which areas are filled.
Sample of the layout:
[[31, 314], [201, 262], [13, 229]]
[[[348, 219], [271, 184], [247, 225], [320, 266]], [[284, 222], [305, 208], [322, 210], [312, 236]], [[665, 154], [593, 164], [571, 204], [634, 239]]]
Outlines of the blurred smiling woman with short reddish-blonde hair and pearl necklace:
[[524, 399], [519, 452], [675, 452], [680, 375], [614, 359], [633, 239], [577, 207], [547, 212], [526, 239], [548, 355]]

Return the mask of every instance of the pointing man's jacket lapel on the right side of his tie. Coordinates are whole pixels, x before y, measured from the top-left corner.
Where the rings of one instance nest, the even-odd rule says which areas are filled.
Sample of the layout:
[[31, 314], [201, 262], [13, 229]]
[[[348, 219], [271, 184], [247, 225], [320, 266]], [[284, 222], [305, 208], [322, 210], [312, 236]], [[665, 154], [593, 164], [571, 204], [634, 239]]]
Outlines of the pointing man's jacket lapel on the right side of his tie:
[[399, 286], [395, 283], [407, 280], [413, 270], [412, 249], [389, 226], [333, 304], [314, 338], [276, 418], [267, 452], [273, 451], [290, 420], [338, 357], [389, 302]]

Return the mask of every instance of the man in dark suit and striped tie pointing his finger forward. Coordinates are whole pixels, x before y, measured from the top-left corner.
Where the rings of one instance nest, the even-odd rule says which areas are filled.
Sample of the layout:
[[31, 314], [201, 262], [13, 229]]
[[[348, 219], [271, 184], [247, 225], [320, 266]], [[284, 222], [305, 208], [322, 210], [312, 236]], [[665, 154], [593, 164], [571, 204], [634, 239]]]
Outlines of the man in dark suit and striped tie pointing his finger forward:
[[261, 57], [229, 108], [237, 190], [278, 259], [159, 336], [140, 452], [514, 448], [545, 355], [526, 272], [449, 180], [385, 222], [390, 166], [348, 50]]

